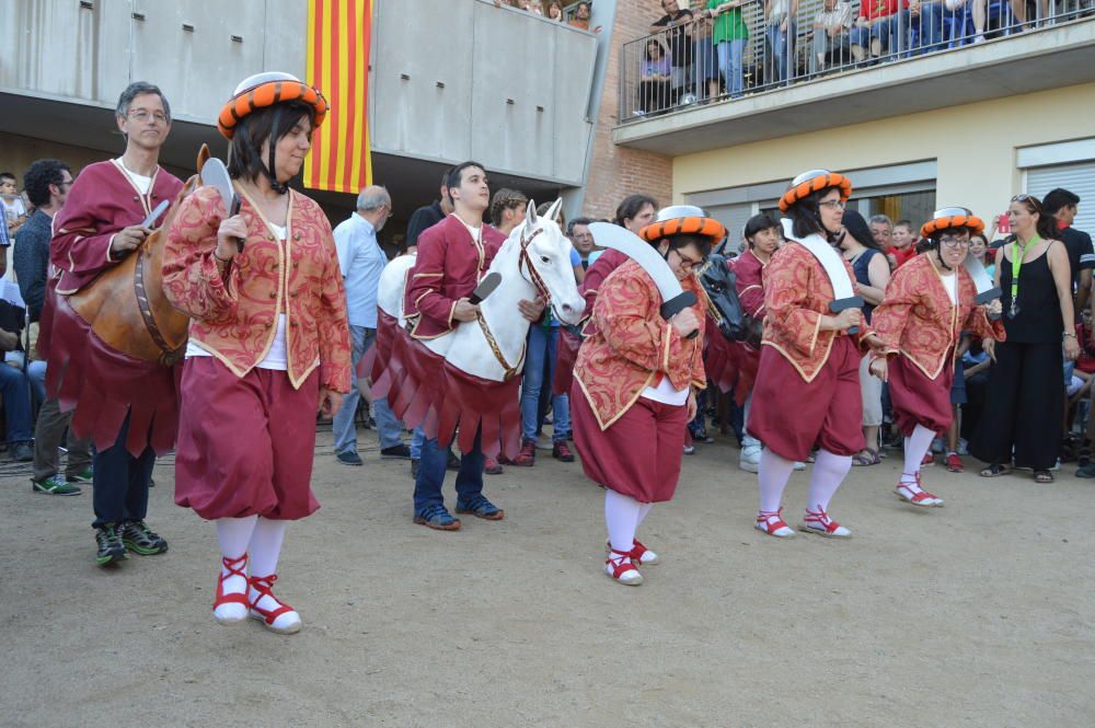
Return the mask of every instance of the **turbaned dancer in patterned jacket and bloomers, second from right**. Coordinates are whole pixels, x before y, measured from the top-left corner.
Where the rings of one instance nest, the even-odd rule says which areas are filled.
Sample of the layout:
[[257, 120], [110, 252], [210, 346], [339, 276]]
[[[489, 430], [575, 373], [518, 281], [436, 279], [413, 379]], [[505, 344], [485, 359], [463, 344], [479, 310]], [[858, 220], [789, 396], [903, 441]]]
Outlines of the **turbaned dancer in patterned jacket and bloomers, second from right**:
[[[846, 539], [829, 518], [829, 501], [863, 450], [861, 349], [883, 348], [866, 328], [855, 299], [833, 312], [838, 289], [853, 291], [852, 266], [832, 250], [852, 182], [828, 170], [805, 172], [780, 199], [787, 242], [764, 270], [764, 337], [749, 408], [749, 432], [760, 457], [757, 529], [785, 539], [795, 532], [781, 501], [795, 461], [818, 444], [803, 530]], [[839, 307], [838, 307], [839, 308]]]

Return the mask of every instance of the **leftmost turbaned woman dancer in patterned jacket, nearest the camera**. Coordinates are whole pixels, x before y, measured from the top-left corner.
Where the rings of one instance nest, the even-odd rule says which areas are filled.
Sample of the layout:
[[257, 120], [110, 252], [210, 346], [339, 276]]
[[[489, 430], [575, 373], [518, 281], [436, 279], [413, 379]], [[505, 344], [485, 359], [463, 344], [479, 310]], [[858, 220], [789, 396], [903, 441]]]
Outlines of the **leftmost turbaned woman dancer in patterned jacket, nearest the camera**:
[[219, 117], [241, 206], [219, 192], [183, 200], [163, 286], [191, 316], [175, 457], [175, 502], [217, 527], [214, 616], [291, 634], [300, 615], [270, 589], [286, 524], [320, 507], [310, 481], [316, 409], [349, 391], [346, 292], [326, 215], [288, 183], [327, 104], [288, 73], [258, 73]]

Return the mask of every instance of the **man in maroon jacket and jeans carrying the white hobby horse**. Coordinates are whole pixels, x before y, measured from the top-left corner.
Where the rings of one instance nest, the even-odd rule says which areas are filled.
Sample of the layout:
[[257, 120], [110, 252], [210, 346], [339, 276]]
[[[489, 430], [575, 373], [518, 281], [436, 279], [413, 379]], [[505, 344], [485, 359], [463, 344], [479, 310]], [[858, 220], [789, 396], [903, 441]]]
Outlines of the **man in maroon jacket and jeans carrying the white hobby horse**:
[[[419, 236], [418, 257], [404, 293], [407, 326], [411, 336], [419, 340], [443, 336], [458, 323], [475, 321], [479, 307], [469, 297], [505, 242], [502, 233], [483, 222], [483, 212], [491, 204], [483, 165], [464, 162], [454, 166], [449, 172], [448, 192], [453, 212]], [[543, 313], [544, 302], [522, 301], [520, 305], [521, 314], [535, 321]], [[427, 434], [414, 492], [415, 523], [442, 531], [460, 528], [441, 496], [448, 451], [438, 443], [438, 437], [448, 435]], [[483, 495], [483, 465], [482, 442], [476, 435], [474, 447], [461, 453], [457, 512], [500, 520], [505, 512]]]

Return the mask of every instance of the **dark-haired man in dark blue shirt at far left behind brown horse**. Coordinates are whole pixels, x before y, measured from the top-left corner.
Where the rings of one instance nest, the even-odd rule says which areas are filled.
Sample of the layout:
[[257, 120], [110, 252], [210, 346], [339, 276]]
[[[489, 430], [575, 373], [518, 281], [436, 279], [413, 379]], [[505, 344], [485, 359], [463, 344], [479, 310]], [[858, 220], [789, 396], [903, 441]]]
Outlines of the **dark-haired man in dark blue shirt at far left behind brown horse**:
[[[72, 187], [72, 171], [68, 164], [55, 159], [39, 159], [23, 175], [23, 187], [34, 205], [26, 224], [15, 234], [14, 267], [19, 291], [26, 302], [31, 320], [31, 344], [26, 355], [35, 355], [42, 304], [46, 298], [46, 279], [49, 269], [49, 239], [53, 236], [54, 217], [65, 207]], [[34, 428], [34, 475], [31, 487], [35, 493], [54, 496], [80, 495], [79, 484], [91, 483], [91, 441], [68, 436], [68, 464], [60, 474], [58, 448], [60, 447], [72, 413], [62, 413], [56, 398], [45, 397], [46, 362], [32, 361], [27, 374], [39, 390], [42, 406]]]

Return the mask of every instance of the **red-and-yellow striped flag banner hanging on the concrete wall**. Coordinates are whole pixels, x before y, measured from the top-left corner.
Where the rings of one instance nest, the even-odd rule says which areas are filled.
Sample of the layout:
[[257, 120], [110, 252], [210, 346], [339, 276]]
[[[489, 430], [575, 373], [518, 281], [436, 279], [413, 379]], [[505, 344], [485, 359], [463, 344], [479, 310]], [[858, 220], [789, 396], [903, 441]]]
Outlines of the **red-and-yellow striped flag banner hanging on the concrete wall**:
[[357, 194], [372, 184], [369, 38], [372, 0], [308, 0], [308, 83], [331, 105], [312, 138], [304, 186]]

